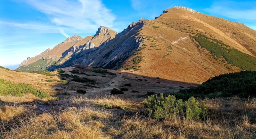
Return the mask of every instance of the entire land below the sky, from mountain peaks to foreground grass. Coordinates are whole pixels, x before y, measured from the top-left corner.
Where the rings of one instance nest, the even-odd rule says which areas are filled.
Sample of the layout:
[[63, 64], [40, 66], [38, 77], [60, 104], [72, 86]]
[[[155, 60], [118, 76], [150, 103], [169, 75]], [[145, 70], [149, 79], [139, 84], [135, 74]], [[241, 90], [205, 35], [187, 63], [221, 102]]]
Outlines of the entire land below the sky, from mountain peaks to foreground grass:
[[0, 138], [256, 138], [255, 91], [256, 31], [175, 6], [0, 66]]

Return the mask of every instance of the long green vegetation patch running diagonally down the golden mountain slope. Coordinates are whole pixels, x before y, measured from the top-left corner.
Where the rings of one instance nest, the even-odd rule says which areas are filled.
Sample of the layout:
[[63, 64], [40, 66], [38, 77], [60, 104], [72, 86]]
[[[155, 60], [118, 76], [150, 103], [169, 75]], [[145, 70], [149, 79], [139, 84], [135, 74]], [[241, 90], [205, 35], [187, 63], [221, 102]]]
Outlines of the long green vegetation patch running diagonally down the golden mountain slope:
[[237, 66], [243, 70], [256, 70], [256, 58], [248, 54], [242, 53], [236, 49], [225, 48], [217, 43], [203, 37], [194, 36], [195, 40], [199, 42], [202, 48], [206, 48], [213, 56], [218, 58], [225, 58], [227, 62], [233, 66]]

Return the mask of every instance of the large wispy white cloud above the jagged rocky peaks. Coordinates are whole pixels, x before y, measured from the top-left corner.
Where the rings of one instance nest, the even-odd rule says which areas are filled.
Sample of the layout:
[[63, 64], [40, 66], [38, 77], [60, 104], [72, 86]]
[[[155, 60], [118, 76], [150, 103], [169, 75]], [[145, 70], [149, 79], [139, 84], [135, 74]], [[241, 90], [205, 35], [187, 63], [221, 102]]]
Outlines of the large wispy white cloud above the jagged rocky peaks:
[[72, 30], [96, 32], [101, 25], [113, 27], [115, 20], [115, 15], [100, 0], [26, 0], [25, 2], [47, 14], [52, 23], [62, 28], [61, 34], [73, 33]]

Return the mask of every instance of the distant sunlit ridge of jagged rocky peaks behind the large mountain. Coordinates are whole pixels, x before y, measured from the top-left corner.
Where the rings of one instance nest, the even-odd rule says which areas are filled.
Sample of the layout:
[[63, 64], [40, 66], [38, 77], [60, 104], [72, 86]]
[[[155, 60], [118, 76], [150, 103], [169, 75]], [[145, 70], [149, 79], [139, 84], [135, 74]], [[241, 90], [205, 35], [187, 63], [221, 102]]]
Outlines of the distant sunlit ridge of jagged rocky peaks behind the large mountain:
[[45, 70], [51, 65], [62, 64], [68, 60], [73, 53], [98, 47], [114, 38], [116, 34], [117, 32], [114, 30], [101, 26], [94, 36], [82, 38], [81, 36], [74, 35], [72, 37], [68, 37], [53, 49], [48, 48], [35, 57], [28, 57], [19, 65], [17, 70], [25, 72]]

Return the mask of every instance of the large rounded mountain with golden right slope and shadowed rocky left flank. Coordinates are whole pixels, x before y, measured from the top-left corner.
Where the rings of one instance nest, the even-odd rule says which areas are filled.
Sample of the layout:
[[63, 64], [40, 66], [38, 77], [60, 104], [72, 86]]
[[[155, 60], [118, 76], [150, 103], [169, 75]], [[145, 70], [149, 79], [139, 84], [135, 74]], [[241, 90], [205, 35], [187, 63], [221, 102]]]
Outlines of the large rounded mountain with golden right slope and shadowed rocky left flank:
[[97, 34], [110, 29], [100, 28], [90, 39], [100, 47], [72, 51], [48, 70], [81, 64], [199, 84], [224, 73], [256, 70], [256, 31], [190, 8], [166, 9], [105, 40], [109, 35]]

